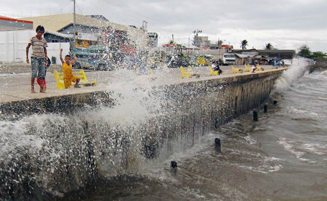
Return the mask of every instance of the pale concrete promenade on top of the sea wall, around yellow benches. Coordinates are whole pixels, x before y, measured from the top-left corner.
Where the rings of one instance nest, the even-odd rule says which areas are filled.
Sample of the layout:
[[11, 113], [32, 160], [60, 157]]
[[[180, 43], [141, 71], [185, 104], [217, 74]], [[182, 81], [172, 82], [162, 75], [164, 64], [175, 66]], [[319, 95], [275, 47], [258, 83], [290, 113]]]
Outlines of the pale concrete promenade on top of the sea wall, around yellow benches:
[[[110, 90], [112, 87], [124, 88], [126, 85], [132, 85], [133, 87], [144, 87], [151, 85], [162, 84], [176, 84], [181, 82], [207, 80], [213, 78], [226, 78], [231, 76], [242, 76], [249, 74], [258, 74], [261, 72], [275, 71], [272, 65], [262, 66], [265, 71], [256, 71], [256, 73], [243, 72], [243, 73], [231, 73], [230, 66], [221, 66], [224, 71], [219, 76], [209, 76], [210, 71], [207, 66], [193, 67], [193, 71], [200, 74], [200, 78], [184, 78], [181, 79], [181, 72], [179, 68], [160, 68], [153, 70], [155, 79], [148, 79], [147, 77], [136, 76], [133, 70], [114, 70], [114, 71], [89, 71], [86, 72], [89, 80], [96, 80], [97, 86], [81, 87], [81, 88], [69, 88], [69, 89], [57, 89], [56, 81], [53, 76], [53, 70], [61, 71], [60, 65], [51, 65], [46, 75], [47, 92], [40, 93], [39, 86], [35, 83], [35, 89], [37, 93], [31, 93], [31, 79], [30, 79], [30, 65], [17, 64], [17, 65], [5, 65], [0, 64], [0, 103], [12, 102], [17, 100], [27, 100], [43, 97], [61, 96], [68, 94], [79, 94], [94, 91]], [[234, 67], [244, 69], [244, 66]], [[285, 69], [285, 68], [278, 68]], [[73, 69], [73, 71], [78, 71]], [[14, 73], [15, 72], [15, 73]], [[18, 73], [17, 73], [18, 72]]]

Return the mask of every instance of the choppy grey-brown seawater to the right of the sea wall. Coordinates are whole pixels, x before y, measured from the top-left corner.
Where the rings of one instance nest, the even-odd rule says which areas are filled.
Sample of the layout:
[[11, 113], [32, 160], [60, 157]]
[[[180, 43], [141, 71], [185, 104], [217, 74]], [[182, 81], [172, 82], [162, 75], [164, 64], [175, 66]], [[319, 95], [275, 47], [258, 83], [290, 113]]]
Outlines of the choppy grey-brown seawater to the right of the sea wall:
[[258, 122], [251, 111], [188, 150], [99, 178], [63, 200], [327, 200], [326, 83], [326, 72], [295, 66], [276, 81], [268, 113], [258, 108]]

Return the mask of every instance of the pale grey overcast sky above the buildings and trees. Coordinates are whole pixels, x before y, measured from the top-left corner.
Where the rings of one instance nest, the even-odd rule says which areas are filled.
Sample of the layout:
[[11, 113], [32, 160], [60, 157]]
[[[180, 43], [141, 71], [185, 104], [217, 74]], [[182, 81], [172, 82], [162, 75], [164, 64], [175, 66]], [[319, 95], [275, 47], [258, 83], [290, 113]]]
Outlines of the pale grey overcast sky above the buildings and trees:
[[[0, 15], [30, 17], [72, 13], [69, 0], [2, 0]], [[76, 0], [76, 13], [103, 15], [109, 21], [142, 26], [159, 35], [159, 44], [174, 34], [177, 43], [192, 43], [192, 31], [201, 30], [214, 43], [218, 39], [239, 49], [240, 41], [263, 49], [271, 43], [278, 49], [327, 52], [327, 0]]]

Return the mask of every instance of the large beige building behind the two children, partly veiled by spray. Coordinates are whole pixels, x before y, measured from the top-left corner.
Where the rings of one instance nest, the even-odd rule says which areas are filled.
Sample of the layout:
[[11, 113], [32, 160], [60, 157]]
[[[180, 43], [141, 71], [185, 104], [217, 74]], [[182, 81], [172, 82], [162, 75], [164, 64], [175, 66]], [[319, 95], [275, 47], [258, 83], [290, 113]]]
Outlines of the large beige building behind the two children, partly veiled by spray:
[[75, 16], [75, 26], [73, 25], [73, 14], [23, 19], [33, 21], [34, 28], [43, 25], [46, 31], [73, 35], [75, 41], [72, 42], [72, 45], [76, 48], [104, 44], [112, 46], [115, 50], [134, 52], [137, 48], [147, 47], [149, 39], [141, 29], [109, 22], [103, 16], [90, 17], [77, 14]]

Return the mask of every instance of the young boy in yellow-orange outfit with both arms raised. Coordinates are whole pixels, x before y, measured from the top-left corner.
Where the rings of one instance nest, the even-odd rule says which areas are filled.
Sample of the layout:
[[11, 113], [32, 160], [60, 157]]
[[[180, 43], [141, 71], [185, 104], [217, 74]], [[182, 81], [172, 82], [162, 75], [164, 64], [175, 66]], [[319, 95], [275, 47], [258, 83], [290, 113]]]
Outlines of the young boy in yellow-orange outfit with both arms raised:
[[62, 63], [63, 82], [65, 84], [65, 88], [70, 88], [71, 82], [75, 82], [75, 86], [74, 86], [75, 88], [80, 88], [80, 86], [78, 85], [78, 82], [79, 82], [80, 78], [77, 77], [77, 76], [74, 76], [72, 74], [71, 65], [75, 64], [76, 61], [77, 61], [75, 53], [72, 53], [72, 55], [74, 57], [74, 60], [70, 61], [71, 58], [70, 58], [69, 55], [66, 55], [65, 60], [63, 60], [62, 59], [62, 49], [60, 49], [59, 57], [60, 57], [60, 60], [61, 60], [61, 63]]

